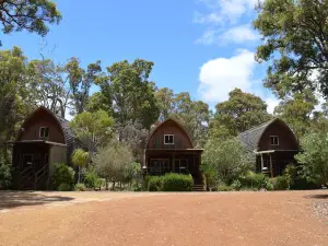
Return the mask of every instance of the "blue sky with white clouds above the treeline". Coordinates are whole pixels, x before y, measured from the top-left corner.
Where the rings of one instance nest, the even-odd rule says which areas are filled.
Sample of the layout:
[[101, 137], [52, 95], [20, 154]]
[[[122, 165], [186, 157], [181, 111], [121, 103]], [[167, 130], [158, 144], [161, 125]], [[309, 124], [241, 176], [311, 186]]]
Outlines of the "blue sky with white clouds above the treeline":
[[[62, 21], [46, 36], [48, 57], [82, 66], [136, 58], [155, 63], [159, 87], [188, 91], [211, 106], [234, 87], [255, 93], [272, 112], [278, 101], [261, 85], [265, 65], [254, 60], [260, 44], [251, 27], [258, 0], [58, 0]], [[82, 3], [81, 3], [82, 2]], [[1, 35], [4, 49], [21, 47], [39, 58], [42, 38], [26, 32]]]

